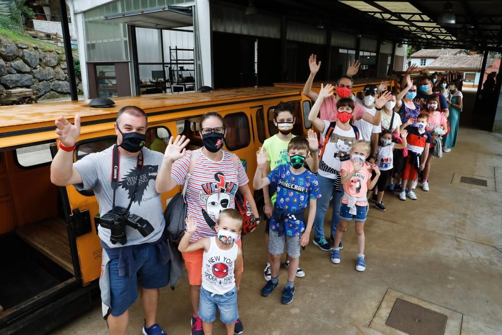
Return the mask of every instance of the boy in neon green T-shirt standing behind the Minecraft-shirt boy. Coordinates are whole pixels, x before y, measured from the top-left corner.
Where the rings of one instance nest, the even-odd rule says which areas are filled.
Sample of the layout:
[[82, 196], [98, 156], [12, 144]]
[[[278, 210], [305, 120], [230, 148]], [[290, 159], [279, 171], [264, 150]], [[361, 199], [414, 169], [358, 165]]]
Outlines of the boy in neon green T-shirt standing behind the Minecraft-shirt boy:
[[[279, 133], [268, 138], [263, 143], [263, 148], [267, 150], [268, 161], [270, 166], [268, 169], [264, 169], [263, 177], [266, 177], [270, 171], [274, 170], [278, 165], [289, 164], [288, 162], [288, 144], [295, 137], [291, 132], [293, 131], [293, 126], [295, 124], [296, 118], [293, 115], [294, 106], [289, 102], [281, 102], [274, 109], [274, 125], [279, 129]], [[317, 135], [313, 130], [308, 132], [308, 141], [311, 154], [307, 157], [307, 164], [310, 171], [317, 173], [319, 167], [319, 159], [317, 156], [317, 151], [319, 149], [319, 142], [317, 140]], [[270, 217], [274, 211], [274, 204], [277, 198], [277, 194], [269, 193], [269, 186], [263, 187], [263, 197], [265, 200], [264, 212], [267, 216], [267, 225], [265, 227], [265, 232], [267, 233], [265, 242], [269, 246], [269, 230], [270, 230]], [[269, 258], [267, 261], [267, 266], [264, 270], [264, 277], [266, 281], [271, 279], [271, 255], [268, 253]], [[289, 257], [286, 258], [284, 263], [286, 268], [289, 267]], [[305, 272], [298, 267], [296, 272], [297, 277], [305, 277]]]

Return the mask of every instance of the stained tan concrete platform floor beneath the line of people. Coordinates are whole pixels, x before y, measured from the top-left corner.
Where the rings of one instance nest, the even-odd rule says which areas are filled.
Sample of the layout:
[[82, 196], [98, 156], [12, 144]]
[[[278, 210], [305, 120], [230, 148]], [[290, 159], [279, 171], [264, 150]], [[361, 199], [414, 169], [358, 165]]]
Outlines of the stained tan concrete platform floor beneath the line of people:
[[[376, 334], [369, 327], [388, 291], [399, 291], [461, 313], [462, 334], [502, 330], [502, 135], [460, 129], [457, 147], [435, 158], [430, 192], [400, 201], [386, 194], [386, 212], [371, 207], [366, 221], [366, 261], [355, 270], [356, 238], [343, 236], [342, 262], [310, 242], [300, 264], [290, 305], [281, 305], [286, 281], [264, 298], [266, 248], [263, 229], [245, 237], [239, 314], [247, 334]], [[454, 174], [488, 180], [488, 189], [455, 184]], [[452, 183], [453, 181], [453, 183]], [[328, 218], [326, 222], [328, 222]], [[325, 228], [328, 232], [328, 228]], [[186, 274], [175, 291], [161, 291], [158, 321], [169, 334], [188, 334], [191, 306]], [[129, 334], [140, 334], [141, 305], [130, 309]], [[217, 322], [215, 333], [222, 334]], [[106, 334], [100, 306], [64, 325], [55, 334]], [[454, 332], [458, 333], [458, 332]]]

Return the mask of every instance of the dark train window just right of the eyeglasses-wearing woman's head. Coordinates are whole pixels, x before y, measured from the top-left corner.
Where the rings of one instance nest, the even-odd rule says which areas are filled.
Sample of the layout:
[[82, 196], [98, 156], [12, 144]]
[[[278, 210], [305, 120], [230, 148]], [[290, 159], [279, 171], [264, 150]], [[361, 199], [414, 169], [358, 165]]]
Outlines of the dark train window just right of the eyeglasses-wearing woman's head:
[[228, 150], [234, 151], [245, 148], [251, 142], [249, 120], [242, 111], [225, 115], [226, 137], [225, 145]]

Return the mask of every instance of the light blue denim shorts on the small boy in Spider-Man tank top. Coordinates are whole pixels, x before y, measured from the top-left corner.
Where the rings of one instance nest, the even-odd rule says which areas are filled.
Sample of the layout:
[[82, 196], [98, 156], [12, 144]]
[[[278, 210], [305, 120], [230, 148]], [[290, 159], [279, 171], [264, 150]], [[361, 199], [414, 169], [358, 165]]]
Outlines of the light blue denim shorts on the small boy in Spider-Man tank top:
[[216, 307], [223, 323], [234, 323], [239, 318], [237, 311], [237, 287], [225, 294], [212, 294], [200, 287], [199, 316], [204, 322], [216, 320]]

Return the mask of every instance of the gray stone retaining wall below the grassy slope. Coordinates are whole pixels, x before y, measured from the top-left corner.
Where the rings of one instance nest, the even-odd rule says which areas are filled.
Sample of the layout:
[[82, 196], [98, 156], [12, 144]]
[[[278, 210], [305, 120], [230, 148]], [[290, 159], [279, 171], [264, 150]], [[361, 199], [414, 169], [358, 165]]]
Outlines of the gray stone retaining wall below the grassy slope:
[[[81, 78], [75, 79], [78, 93], [82, 94]], [[12, 88], [31, 88], [39, 100], [69, 97], [64, 52], [0, 38], [0, 91]]]

